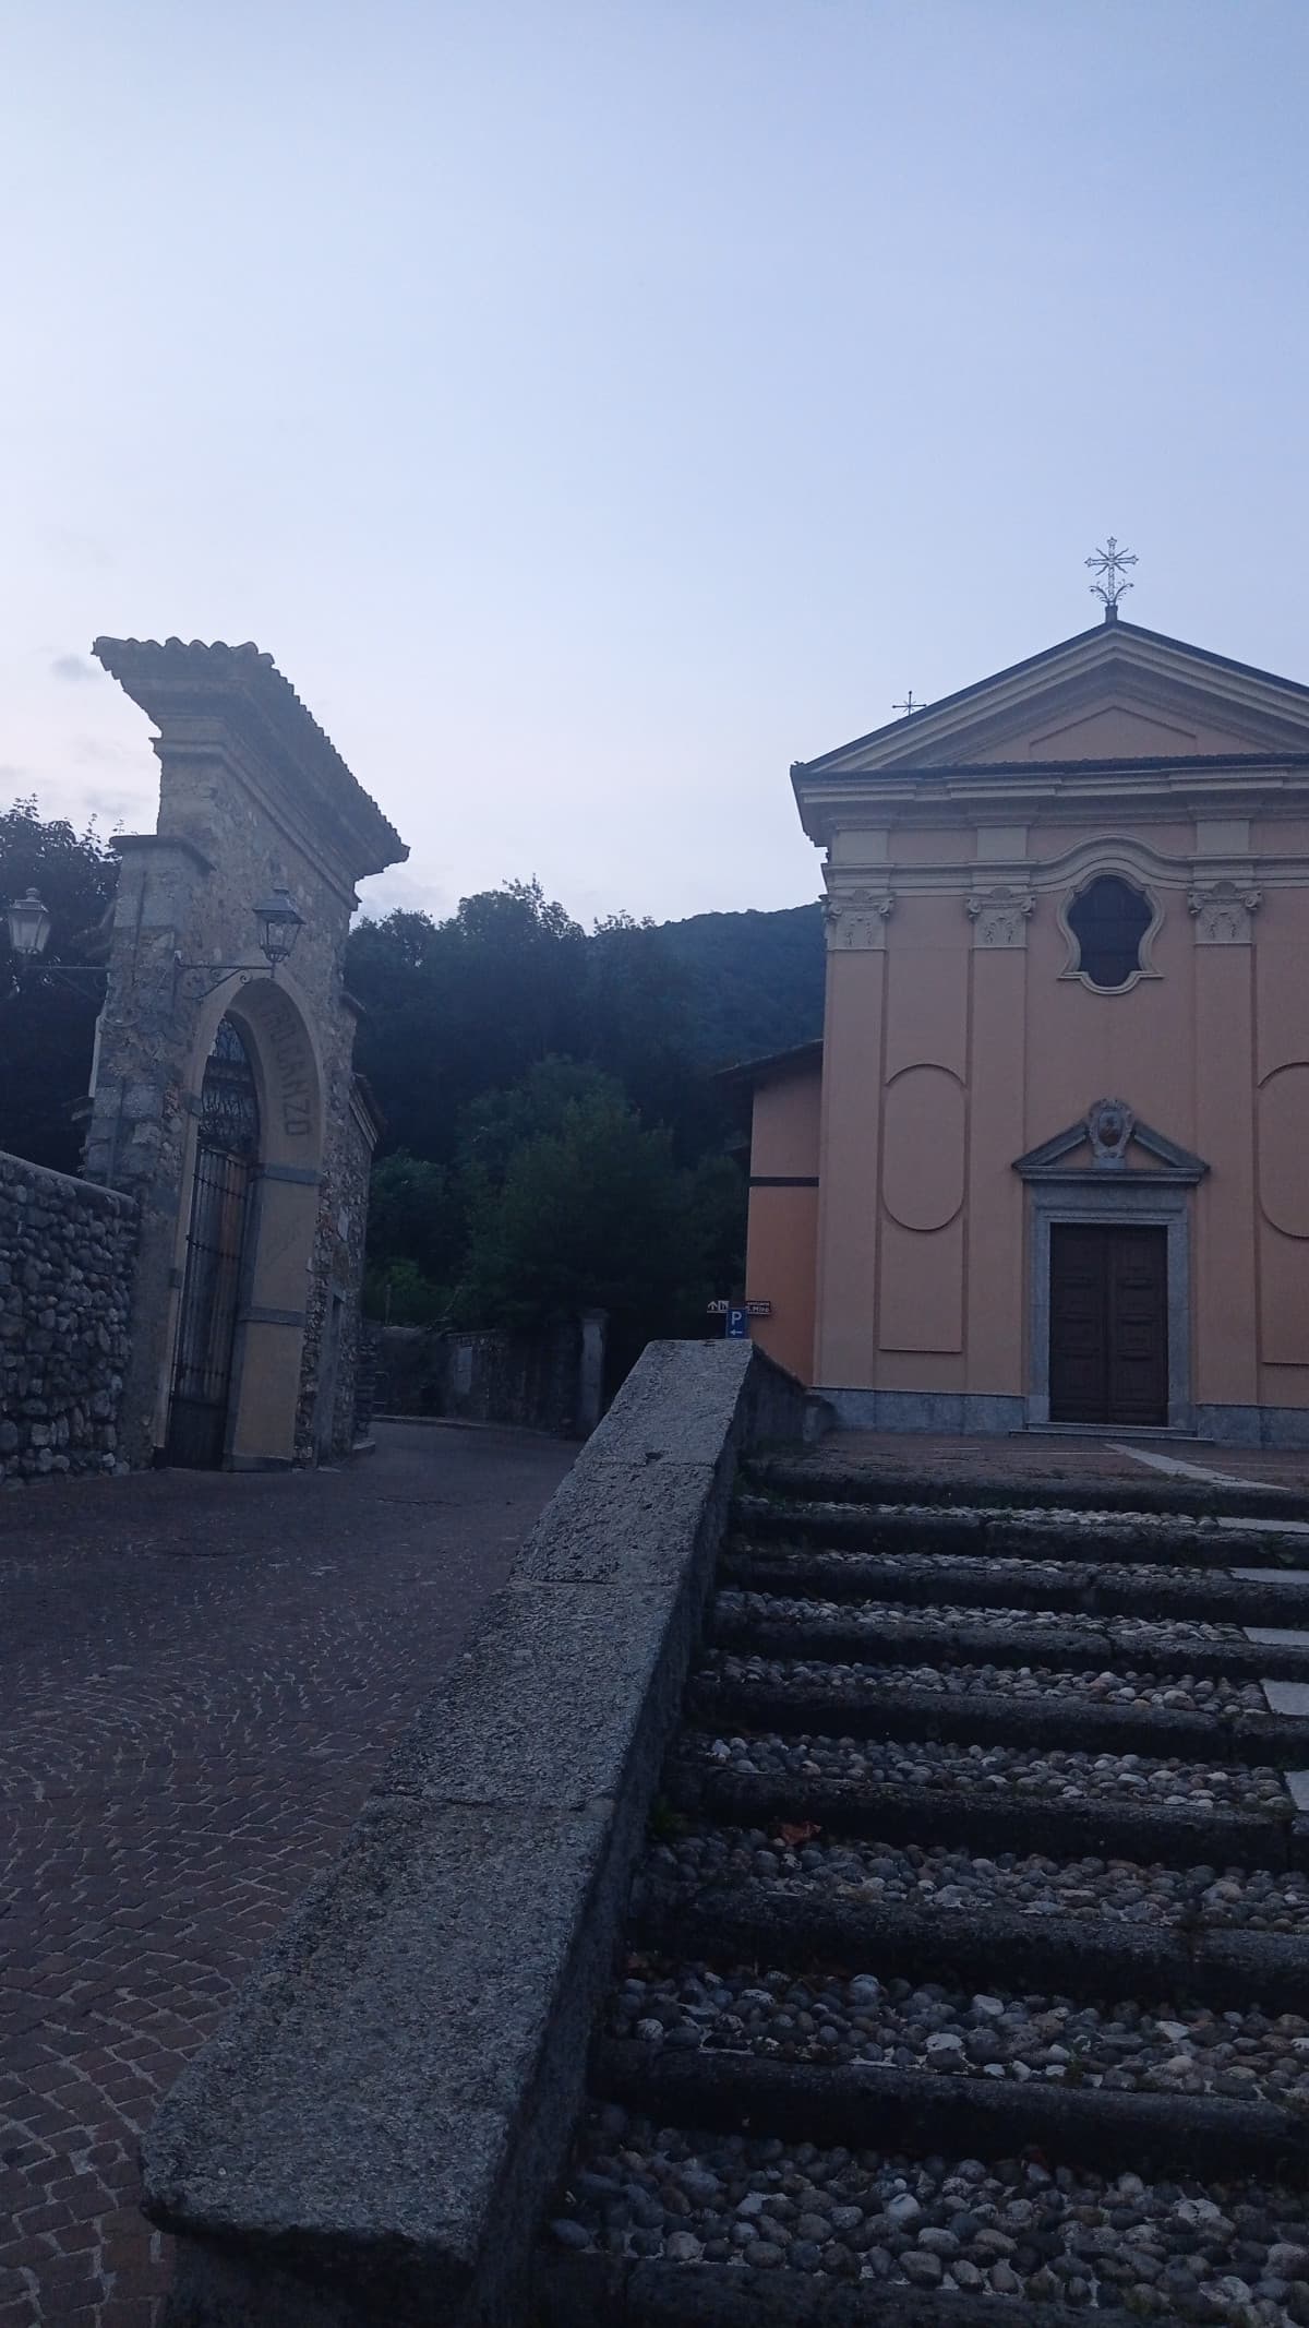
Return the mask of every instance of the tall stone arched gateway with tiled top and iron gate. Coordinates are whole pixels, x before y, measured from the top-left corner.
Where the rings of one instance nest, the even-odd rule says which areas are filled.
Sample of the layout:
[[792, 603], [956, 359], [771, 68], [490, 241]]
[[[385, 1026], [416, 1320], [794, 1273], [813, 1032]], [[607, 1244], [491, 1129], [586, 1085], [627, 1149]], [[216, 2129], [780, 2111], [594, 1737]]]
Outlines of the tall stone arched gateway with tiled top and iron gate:
[[[86, 1138], [86, 1176], [140, 1208], [123, 1453], [342, 1455], [377, 1138], [344, 943], [356, 882], [407, 850], [258, 647], [95, 654], [160, 759], [156, 831], [116, 840]], [[253, 906], [279, 885], [302, 927], [270, 966]]]

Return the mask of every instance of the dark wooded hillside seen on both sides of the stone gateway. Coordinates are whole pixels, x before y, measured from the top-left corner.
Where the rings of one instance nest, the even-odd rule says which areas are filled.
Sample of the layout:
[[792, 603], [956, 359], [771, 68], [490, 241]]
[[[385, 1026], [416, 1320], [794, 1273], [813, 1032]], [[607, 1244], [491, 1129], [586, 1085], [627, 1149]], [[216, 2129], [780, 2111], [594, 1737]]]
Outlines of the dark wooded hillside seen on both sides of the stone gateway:
[[[98, 833], [0, 815], [0, 899], [35, 882], [49, 959], [84, 961], [112, 896]], [[346, 945], [356, 1064], [386, 1129], [367, 1299], [391, 1318], [539, 1325], [602, 1306], [637, 1350], [742, 1285], [739, 1099], [714, 1069], [821, 1031], [816, 906], [614, 915], [584, 931], [537, 882], [393, 913]], [[77, 1169], [95, 1003], [16, 987], [0, 938], [0, 1145]]]

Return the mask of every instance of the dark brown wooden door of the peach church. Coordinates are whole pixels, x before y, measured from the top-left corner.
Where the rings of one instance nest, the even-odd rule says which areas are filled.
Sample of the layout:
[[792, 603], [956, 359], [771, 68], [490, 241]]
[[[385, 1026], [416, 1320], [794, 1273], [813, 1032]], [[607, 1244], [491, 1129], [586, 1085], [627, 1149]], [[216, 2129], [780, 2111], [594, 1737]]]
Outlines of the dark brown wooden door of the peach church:
[[1051, 1422], [1167, 1422], [1167, 1229], [1051, 1225]]

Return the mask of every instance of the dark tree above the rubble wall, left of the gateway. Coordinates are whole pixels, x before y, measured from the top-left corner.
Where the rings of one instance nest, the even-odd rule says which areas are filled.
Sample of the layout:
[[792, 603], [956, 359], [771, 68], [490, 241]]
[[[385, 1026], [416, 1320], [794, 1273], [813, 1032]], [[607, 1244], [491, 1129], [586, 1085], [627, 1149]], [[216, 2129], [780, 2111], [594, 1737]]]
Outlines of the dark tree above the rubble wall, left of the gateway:
[[[119, 868], [95, 824], [77, 833], [44, 822], [33, 799], [0, 812], [0, 906], [37, 889], [51, 915], [47, 964], [86, 964], [102, 952], [100, 924]], [[72, 1106], [86, 1096], [98, 1001], [28, 971], [14, 980], [9, 934], [0, 927], [0, 1138], [53, 1171], [77, 1171], [81, 1131]]]

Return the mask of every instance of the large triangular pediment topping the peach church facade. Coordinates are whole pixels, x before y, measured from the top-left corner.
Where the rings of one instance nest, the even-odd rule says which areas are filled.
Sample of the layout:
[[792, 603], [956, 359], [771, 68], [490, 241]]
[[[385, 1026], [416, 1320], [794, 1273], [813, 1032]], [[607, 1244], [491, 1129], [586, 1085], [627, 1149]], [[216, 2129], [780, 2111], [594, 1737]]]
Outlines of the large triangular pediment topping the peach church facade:
[[1044, 761], [1309, 754], [1309, 687], [1130, 622], [1046, 647], [795, 768], [811, 780]]

